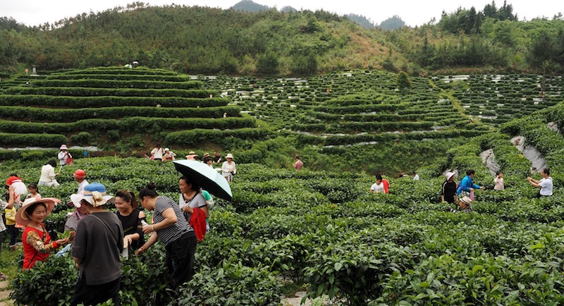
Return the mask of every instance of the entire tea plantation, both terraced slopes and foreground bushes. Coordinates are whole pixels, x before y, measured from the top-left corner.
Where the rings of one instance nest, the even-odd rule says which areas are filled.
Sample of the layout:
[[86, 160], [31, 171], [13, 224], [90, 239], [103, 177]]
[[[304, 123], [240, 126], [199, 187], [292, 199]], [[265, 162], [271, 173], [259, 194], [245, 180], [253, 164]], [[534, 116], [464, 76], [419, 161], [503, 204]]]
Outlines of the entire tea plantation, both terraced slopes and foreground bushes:
[[[281, 290], [291, 294], [294, 286], [318, 305], [560, 305], [564, 111], [561, 104], [548, 107], [561, 102], [558, 80], [546, 80], [545, 98], [537, 101], [532, 86], [540, 80], [522, 77], [506, 83], [500, 78], [495, 90], [494, 78], [483, 76], [412, 78], [410, 90], [399, 90], [396, 75], [376, 71], [303, 79], [145, 68], [62, 71], [29, 87], [3, 90], [2, 141], [19, 145], [21, 135], [35, 135], [25, 142], [90, 143], [88, 136], [102, 146], [130, 145], [132, 139], [140, 147], [154, 141], [179, 147], [214, 143], [239, 147], [235, 156], [246, 161], [267, 154], [283, 158], [291, 149], [312, 154], [302, 171], [238, 164], [233, 202], [218, 200], [212, 209], [212, 231], [197, 247], [192, 281], [171, 295], [164, 249], [156, 245], [123, 262], [125, 304], [279, 305]], [[474, 92], [472, 85], [482, 82], [489, 87]], [[522, 90], [513, 94], [514, 83]], [[494, 96], [495, 106], [470, 105]], [[518, 101], [522, 106], [512, 106], [508, 116], [505, 104]], [[534, 110], [539, 111], [525, 116]], [[470, 123], [470, 117], [480, 120]], [[497, 127], [510, 117], [517, 118]], [[266, 135], [274, 139], [264, 140]], [[516, 135], [546, 158], [553, 197], [534, 198], [537, 190], [525, 177], [538, 175], [510, 142]], [[491, 190], [493, 177], [479, 157], [486, 149], [505, 173], [506, 190]], [[325, 171], [310, 170], [314, 159], [328, 160]], [[386, 169], [416, 169], [421, 180], [388, 175], [389, 195], [368, 192], [374, 169], [386, 162]], [[0, 174], [16, 171], [26, 182], [39, 177], [38, 166], [13, 165], [0, 165]], [[348, 171], [341, 171], [343, 165]], [[359, 165], [364, 172], [357, 171]], [[68, 200], [79, 167], [110, 193], [154, 181], [162, 195], [178, 195], [171, 164], [118, 157], [79, 159], [61, 171], [60, 188], [43, 188], [42, 195]], [[452, 213], [454, 207], [441, 203], [448, 169], [476, 171], [474, 180], [486, 190], [477, 191], [474, 213]], [[57, 207], [47, 225], [61, 231], [67, 210]], [[32, 273], [13, 274], [13, 299], [29, 305], [66, 305], [76, 281], [69, 257], [51, 257]], [[34, 300], [45, 292], [40, 290], [61, 294]]]

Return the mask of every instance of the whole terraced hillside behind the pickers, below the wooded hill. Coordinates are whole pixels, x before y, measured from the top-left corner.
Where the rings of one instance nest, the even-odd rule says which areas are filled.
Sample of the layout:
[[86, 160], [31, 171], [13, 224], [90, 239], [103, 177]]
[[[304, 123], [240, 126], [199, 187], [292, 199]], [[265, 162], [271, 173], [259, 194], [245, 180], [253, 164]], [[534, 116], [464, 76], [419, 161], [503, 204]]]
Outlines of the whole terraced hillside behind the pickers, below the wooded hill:
[[[274, 169], [299, 154], [311, 169], [398, 175], [445, 164], [446, 154], [437, 152], [562, 100], [560, 78], [408, 77], [400, 87], [400, 75], [255, 78], [90, 68], [28, 76], [30, 86], [18, 78], [0, 95], [1, 141], [93, 145], [99, 154], [123, 156], [142, 156], [161, 143], [176, 152], [232, 152], [240, 162]], [[3, 151], [1, 158], [49, 154]]]

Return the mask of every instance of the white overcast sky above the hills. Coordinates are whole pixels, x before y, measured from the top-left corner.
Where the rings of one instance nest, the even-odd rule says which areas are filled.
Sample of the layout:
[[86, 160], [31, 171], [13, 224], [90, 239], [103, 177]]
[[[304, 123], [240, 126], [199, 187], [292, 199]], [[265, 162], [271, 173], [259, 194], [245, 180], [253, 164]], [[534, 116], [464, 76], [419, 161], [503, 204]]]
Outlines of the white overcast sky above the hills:
[[[240, 0], [149, 0], [145, 1], [151, 6], [164, 4], [178, 4], [184, 6], [209, 6], [212, 8], [230, 8]], [[471, 8], [482, 11], [491, 0], [254, 0], [257, 4], [276, 6], [292, 6], [298, 10], [308, 9], [315, 11], [323, 9], [345, 15], [354, 13], [366, 16], [374, 23], [394, 15], [400, 16], [407, 25], [423, 25], [429, 23], [431, 18], [440, 20], [441, 12], [455, 11], [458, 7]], [[54, 23], [67, 17], [74, 17], [80, 13], [90, 11], [105, 11], [116, 6], [126, 6], [133, 0], [0, 0], [0, 16], [12, 17], [25, 25], [40, 25]], [[513, 5], [513, 13], [517, 13], [520, 20], [531, 20], [536, 17], [552, 18], [558, 13], [564, 13], [562, 0], [513, 0], [508, 1]], [[503, 0], [497, 0], [496, 6], [503, 6]]]

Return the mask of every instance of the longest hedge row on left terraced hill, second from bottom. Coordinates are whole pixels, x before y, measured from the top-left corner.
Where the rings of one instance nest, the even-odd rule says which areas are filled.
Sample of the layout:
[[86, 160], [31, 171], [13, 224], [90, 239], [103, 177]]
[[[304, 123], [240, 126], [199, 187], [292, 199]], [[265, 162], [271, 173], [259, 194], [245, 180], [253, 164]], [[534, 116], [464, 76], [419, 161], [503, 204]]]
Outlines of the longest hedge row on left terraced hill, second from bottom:
[[71, 123], [37, 123], [0, 120], [0, 132], [4, 133], [74, 133], [91, 130], [189, 130], [192, 128], [252, 128], [255, 118], [147, 118], [127, 117], [116, 119], [85, 119]]

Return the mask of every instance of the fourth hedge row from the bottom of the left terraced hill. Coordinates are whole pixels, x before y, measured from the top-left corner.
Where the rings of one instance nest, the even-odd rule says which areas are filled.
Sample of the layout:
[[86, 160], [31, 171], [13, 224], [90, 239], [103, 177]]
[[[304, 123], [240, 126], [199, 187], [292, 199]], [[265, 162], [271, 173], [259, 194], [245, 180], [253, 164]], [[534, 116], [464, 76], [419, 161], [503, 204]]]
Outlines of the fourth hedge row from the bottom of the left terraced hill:
[[49, 106], [49, 107], [101, 107], [101, 106], [157, 106], [163, 107], [212, 107], [226, 106], [223, 98], [180, 97], [57, 97], [44, 94], [0, 94], [0, 105]]

